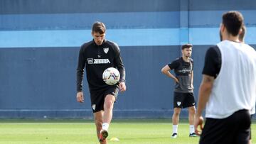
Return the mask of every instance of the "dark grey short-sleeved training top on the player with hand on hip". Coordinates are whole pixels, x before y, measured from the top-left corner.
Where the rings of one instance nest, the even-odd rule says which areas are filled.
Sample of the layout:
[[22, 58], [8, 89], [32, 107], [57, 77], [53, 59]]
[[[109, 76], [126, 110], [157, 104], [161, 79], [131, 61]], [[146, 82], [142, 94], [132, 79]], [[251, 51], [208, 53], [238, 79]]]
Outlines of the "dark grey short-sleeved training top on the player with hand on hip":
[[193, 84], [191, 84], [191, 73], [193, 71], [193, 60], [185, 62], [182, 57], [177, 58], [168, 64], [171, 70], [174, 69], [178, 83], [175, 84], [174, 92], [188, 93], [193, 92]]

